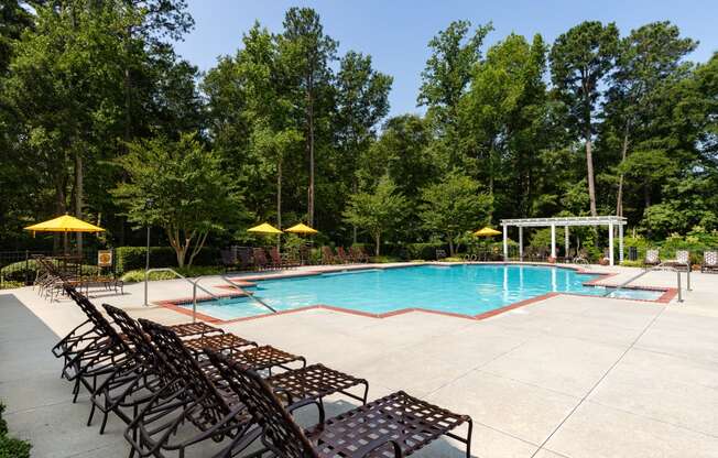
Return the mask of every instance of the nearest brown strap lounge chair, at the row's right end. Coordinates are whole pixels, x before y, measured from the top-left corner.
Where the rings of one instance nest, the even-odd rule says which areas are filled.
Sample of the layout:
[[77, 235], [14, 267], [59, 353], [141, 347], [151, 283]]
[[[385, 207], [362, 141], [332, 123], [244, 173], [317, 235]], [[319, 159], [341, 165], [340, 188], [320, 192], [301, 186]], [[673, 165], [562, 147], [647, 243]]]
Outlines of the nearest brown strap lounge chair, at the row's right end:
[[[261, 427], [261, 441], [273, 456], [404, 457], [442, 436], [465, 444], [466, 456], [471, 456], [472, 422], [468, 415], [452, 413], [399, 391], [328, 419], [322, 403], [307, 400], [303, 405], [316, 405], [319, 423], [302, 430], [291, 416], [296, 404], [287, 408], [280, 401], [283, 392], [273, 391], [257, 372], [219, 353], [209, 351], [208, 357]], [[453, 433], [465, 423], [468, 425], [466, 437]]]

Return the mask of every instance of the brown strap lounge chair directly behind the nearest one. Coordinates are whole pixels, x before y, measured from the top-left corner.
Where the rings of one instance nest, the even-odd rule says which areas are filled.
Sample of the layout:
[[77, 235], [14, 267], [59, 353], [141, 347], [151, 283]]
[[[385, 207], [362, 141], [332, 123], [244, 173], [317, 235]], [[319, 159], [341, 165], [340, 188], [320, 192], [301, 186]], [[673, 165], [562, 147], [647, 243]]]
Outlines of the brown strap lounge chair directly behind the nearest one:
[[[199, 362], [174, 332], [162, 325], [140, 319], [142, 328], [151, 336], [166, 361], [175, 367], [183, 386], [174, 390], [172, 396], [160, 392], [152, 402], [142, 408], [124, 433], [133, 451], [140, 456], [165, 457], [166, 452], [185, 456], [188, 447], [211, 438], [215, 441], [230, 439], [220, 454], [215, 456], [237, 456], [260, 435], [260, 428], [246, 411], [236, 393], [228, 388], [229, 381], [222, 379], [216, 367]], [[207, 350], [213, 351], [213, 350]], [[231, 358], [238, 357], [238, 353]], [[327, 370], [316, 372], [320, 364], [290, 370], [270, 377], [269, 383], [297, 403], [289, 408], [298, 408], [306, 403], [322, 403], [325, 395], [345, 393], [349, 386], [365, 384], [365, 399], [368, 389], [366, 381]], [[326, 369], [326, 368], [325, 368]], [[289, 374], [289, 375], [287, 375]], [[361, 400], [361, 397], [355, 397]], [[173, 402], [174, 401], [174, 402]], [[197, 430], [189, 435], [175, 434], [183, 425], [192, 424]], [[257, 456], [257, 455], [252, 455]]]

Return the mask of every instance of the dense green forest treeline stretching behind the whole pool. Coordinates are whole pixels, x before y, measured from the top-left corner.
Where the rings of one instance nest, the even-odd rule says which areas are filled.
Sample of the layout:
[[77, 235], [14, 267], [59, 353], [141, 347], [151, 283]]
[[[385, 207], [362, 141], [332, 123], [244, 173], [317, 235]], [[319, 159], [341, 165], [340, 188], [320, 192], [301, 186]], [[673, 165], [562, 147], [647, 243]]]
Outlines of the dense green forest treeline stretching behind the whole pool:
[[173, 247], [241, 242], [264, 220], [378, 244], [519, 217], [718, 228], [718, 55], [693, 62], [668, 21], [491, 46], [490, 22], [452, 22], [416, 43], [425, 115], [388, 118], [391, 75], [340, 53], [312, 9], [237, 32], [205, 74], [173, 48], [194, 25], [184, 0], [6, 0], [0, 17], [4, 249], [42, 243], [21, 228], [64, 212], [111, 246], [145, 223]]

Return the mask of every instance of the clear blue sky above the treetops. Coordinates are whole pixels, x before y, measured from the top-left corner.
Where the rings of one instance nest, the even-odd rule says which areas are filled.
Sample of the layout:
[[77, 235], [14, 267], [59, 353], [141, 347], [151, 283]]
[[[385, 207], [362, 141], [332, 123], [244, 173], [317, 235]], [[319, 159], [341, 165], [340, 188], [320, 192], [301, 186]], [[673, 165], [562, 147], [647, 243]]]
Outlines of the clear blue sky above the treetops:
[[453, 20], [474, 24], [491, 21], [487, 44], [511, 32], [541, 33], [547, 42], [584, 20], [614, 21], [622, 34], [646, 22], [670, 20], [700, 45], [692, 55], [707, 61], [718, 51], [718, 0], [188, 0], [196, 26], [177, 44], [180, 54], [200, 70], [220, 55], [233, 54], [254, 20], [272, 32], [282, 29], [287, 8], [312, 7], [325, 32], [339, 41], [339, 52], [370, 54], [374, 67], [394, 77], [391, 115], [416, 108], [420, 74], [428, 56], [426, 44]]

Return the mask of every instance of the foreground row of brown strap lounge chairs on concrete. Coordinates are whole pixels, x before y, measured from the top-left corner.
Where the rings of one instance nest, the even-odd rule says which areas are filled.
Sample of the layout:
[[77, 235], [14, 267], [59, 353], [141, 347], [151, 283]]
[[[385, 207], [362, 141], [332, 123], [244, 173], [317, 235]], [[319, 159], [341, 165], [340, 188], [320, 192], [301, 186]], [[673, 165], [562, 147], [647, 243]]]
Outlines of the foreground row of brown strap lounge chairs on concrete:
[[[126, 424], [130, 456], [194, 456], [204, 445], [215, 457], [403, 457], [442, 436], [470, 456], [467, 415], [403, 391], [367, 402], [363, 379], [204, 323], [163, 326], [104, 304], [108, 319], [74, 286], [64, 288], [87, 319], [53, 348], [62, 377], [73, 382], [74, 401], [89, 392], [88, 425], [96, 412], [100, 434], [109, 415]], [[327, 418], [324, 400], [334, 394], [361, 406]], [[292, 414], [305, 406], [318, 419], [303, 429]]]

